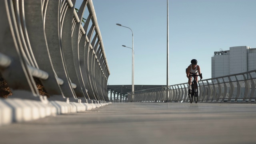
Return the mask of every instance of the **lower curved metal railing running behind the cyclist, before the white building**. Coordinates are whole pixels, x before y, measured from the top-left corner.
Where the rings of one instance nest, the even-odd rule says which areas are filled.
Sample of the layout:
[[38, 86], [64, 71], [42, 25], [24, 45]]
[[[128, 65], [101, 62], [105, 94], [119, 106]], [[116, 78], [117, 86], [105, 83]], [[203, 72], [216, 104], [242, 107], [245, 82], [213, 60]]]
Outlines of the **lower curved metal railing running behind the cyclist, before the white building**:
[[[189, 102], [188, 83], [128, 93], [128, 102]], [[254, 102], [256, 70], [198, 81], [198, 102]], [[134, 98], [132, 98], [132, 95]]]

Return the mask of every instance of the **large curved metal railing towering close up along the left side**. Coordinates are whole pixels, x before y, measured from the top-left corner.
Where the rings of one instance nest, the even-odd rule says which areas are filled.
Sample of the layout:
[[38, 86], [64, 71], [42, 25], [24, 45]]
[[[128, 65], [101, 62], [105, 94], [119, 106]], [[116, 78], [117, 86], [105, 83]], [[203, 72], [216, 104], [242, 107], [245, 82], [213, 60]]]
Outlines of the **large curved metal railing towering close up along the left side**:
[[78, 13], [72, 0], [1, 0], [0, 18], [0, 73], [13, 92], [31, 93], [10, 98], [47, 102], [39, 78], [51, 100], [109, 101], [110, 70], [92, 0]]

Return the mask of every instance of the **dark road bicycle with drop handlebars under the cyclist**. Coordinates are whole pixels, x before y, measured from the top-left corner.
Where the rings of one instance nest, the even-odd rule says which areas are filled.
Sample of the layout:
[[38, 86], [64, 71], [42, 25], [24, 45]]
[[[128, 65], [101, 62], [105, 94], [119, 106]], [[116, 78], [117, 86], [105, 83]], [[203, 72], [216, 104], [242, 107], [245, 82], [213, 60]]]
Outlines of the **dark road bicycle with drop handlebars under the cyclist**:
[[198, 75], [198, 74], [195, 74], [195, 73], [194, 74], [190, 73], [189, 77], [190, 76], [193, 77], [193, 81], [192, 81], [192, 84], [191, 84], [191, 92], [190, 92], [190, 94], [188, 93], [189, 102], [190, 103], [193, 102], [193, 96], [194, 96], [195, 103], [197, 103], [197, 101], [198, 101], [198, 85], [197, 85], [195, 77], [200, 76], [200, 80], [202, 80], [202, 74]]

